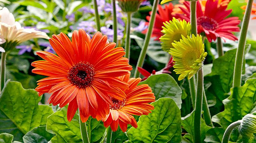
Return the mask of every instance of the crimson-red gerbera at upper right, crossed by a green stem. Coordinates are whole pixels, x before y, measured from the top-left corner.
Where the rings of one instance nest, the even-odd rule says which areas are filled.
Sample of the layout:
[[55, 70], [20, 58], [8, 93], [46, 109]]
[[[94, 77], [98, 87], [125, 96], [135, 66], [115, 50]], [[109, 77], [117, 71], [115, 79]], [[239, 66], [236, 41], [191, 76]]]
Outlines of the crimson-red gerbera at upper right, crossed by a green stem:
[[[218, 7], [218, 2], [214, 0], [207, 0], [205, 4], [205, 11], [203, 11], [200, 2], [197, 1], [197, 33], [204, 32], [207, 39], [211, 42], [217, 37], [227, 38], [230, 40], [237, 40], [237, 37], [231, 32], [238, 32], [240, 20], [238, 17], [226, 18], [232, 10], [226, 10], [227, 6]], [[190, 2], [185, 1], [186, 8], [180, 7], [185, 15], [177, 14], [181, 19], [190, 21]]]

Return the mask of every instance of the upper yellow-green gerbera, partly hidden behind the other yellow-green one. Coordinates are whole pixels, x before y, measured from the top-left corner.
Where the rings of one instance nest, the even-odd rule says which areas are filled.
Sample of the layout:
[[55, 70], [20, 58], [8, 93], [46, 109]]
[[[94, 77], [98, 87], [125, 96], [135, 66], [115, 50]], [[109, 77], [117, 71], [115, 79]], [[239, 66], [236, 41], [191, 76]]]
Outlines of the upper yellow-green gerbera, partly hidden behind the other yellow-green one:
[[161, 32], [164, 33], [164, 35], [159, 39], [162, 42], [161, 48], [165, 52], [169, 52], [170, 48], [173, 48], [172, 43], [174, 41], [180, 41], [181, 35], [185, 37], [191, 35], [191, 25], [185, 20], [179, 21], [173, 17], [172, 21], [166, 21], [163, 24], [164, 26], [162, 26], [163, 30]]

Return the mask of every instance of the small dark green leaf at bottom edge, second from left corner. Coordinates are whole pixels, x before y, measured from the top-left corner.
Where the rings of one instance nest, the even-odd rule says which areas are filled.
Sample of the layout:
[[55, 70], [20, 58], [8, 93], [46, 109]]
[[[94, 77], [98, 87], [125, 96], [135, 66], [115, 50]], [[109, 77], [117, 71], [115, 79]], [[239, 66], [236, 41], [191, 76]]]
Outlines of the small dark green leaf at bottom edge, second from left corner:
[[47, 132], [46, 126], [36, 127], [23, 136], [24, 143], [47, 143], [54, 136]]

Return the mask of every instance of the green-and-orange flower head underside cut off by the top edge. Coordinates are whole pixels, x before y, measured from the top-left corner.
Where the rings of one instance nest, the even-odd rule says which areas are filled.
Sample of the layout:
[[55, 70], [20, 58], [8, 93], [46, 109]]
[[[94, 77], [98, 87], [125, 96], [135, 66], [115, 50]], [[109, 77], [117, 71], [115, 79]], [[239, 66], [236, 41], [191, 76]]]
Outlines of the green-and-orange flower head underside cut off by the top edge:
[[144, 0], [117, 0], [123, 12], [136, 12]]

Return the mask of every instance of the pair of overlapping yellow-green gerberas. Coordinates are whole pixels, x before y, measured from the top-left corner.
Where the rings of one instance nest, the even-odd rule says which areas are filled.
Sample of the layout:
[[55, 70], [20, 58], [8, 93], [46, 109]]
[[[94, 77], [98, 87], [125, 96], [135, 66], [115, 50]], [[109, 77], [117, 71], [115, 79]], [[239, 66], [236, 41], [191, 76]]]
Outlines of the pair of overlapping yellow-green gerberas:
[[185, 77], [192, 78], [203, 66], [207, 55], [204, 52], [204, 43], [201, 35], [191, 35], [191, 25], [185, 20], [179, 21], [173, 18], [172, 21], [163, 23], [164, 33], [159, 39], [162, 42], [161, 48], [169, 52], [175, 61], [176, 74], [180, 74], [178, 80]]

